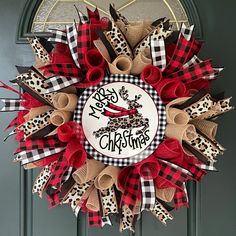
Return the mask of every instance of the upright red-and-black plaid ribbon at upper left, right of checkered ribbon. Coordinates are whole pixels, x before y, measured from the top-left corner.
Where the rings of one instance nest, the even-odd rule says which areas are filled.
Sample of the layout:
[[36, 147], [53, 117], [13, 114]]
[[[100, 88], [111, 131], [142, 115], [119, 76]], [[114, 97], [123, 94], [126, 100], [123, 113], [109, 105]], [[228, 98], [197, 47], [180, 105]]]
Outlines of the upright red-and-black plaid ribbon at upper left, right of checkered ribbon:
[[78, 38], [77, 38], [78, 61], [82, 70], [86, 69], [85, 54], [87, 53], [88, 49], [91, 46], [90, 39], [91, 39], [90, 24], [89, 23], [79, 24]]

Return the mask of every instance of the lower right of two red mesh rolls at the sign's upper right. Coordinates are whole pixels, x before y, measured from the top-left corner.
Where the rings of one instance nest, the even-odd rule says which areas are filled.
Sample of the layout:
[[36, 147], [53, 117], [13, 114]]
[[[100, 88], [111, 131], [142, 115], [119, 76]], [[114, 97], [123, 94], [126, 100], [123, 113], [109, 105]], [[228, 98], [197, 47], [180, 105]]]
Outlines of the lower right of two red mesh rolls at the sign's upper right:
[[165, 103], [187, 95], [185, 84], [175, 79], [164, 79], [157, 83], [155, 89]]

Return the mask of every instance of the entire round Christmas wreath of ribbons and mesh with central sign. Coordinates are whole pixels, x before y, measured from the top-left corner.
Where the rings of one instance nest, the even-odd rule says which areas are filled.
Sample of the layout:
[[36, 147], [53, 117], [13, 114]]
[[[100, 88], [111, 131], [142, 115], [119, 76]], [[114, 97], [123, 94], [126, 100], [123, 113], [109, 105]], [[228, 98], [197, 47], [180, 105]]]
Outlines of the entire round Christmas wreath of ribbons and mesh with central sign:
[[78, 25], [29, 39], [36, 63], [17, 66], [11, 82], [23, 92], [1, 82], [20, 95], [2, 99], [2, 111], [19, 111], [7, 127], [19, 142], [14, 160], [42, 168], [33, 193], [87, 212], [89, 226], [117, 214], [120, 230], [134, 231], [144, 210], [166, 224], [188, 206], [186, 182], [216, 170], [215, 118], [232, 107], [210, 95], [222, 68], [197, 57], [193, 26], [110, 14], [78, 11]]

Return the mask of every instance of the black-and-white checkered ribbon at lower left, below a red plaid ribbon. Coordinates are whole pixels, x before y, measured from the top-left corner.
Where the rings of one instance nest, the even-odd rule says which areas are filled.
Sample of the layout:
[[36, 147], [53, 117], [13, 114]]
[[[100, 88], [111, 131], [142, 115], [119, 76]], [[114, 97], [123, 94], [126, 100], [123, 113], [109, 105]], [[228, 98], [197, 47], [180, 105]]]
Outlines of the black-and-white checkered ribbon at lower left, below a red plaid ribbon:
[[63, 148], [44, 148], [44, 149], [35, 149], [30, 151], [22, 151], [17, 153], [15, 161], [21, 161], [22, 165], [41, 160], [45, 157], [54, 155], [56, 153], [62, 152], [65, 150]]

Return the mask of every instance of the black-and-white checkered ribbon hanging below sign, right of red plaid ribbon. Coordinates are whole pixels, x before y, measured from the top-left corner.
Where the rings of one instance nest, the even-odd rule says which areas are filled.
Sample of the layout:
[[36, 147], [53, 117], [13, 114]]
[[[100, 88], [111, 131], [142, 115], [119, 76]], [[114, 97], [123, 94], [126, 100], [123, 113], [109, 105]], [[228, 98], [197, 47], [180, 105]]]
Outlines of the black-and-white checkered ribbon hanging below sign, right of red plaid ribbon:
[[145, 169], [145, 177], [140, 177], [141, 190], [142, 190], [142, 206], [141, 211], [143, 210], [152, 210], [155, 206], [156, 193], [155, 193], [155, 184], [153, 179], [151, 179], [150, 170]]

